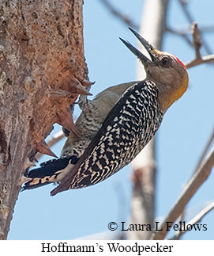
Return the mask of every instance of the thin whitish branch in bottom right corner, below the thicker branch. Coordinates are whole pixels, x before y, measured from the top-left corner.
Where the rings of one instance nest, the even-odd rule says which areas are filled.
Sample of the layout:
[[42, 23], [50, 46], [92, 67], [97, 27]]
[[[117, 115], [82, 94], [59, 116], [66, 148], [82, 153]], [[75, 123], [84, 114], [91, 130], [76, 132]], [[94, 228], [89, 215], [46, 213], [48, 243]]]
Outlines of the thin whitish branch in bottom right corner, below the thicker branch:
[[[203, 210], [201, 210], [201, 212], [198, 212], [196, 216], [193, 217], [192, 220], [190, 220], [186, 226], [188, 225], [193, 225], [193, 224], [197, 224], [199, 222], [201, 222], [201, 220], [208, 214], [208, 212], [212, 211], [212, 209], [214, 209], [214, 202], [208, 204]], [[188, 230], [186, 230], [188, 231]], [[180, 237], [182, 235], [184, 235], [186, 233], [186, 231], [182, 230], [182, 231], [177, 231], [175, 233], [175, 235], [170, 239], [170, 240], [177, 240], [180, 239]]]

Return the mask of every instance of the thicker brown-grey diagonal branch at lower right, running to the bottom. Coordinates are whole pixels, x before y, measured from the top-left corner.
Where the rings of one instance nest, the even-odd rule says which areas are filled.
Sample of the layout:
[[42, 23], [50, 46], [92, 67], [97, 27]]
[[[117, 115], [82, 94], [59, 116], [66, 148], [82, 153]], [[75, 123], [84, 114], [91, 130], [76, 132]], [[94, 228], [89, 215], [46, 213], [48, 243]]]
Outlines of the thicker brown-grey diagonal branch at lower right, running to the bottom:
[[196, 193], [197, 189], [203, 184], [203, 182], [208, 178], [211, 173], [212, 166], [214, 165], [214, 147], [209, 152], [206, 159], [202, 162], [200, 168], [193, 174], [193, 177], [190, 179], [186, 188], [182, 191], [180, 197], [175, 202], [174, 206], [171, 208], [171, 211], [168, 213], [165, 220], [161, 224], [161, 231], [153, 232], [152, 239], [153, 240], [161, 240], [164, 239], [167, 235], [167, 222], [175, 222], [183, 212], [183, 209], [186, 207], [186, 204], [193, 197], [194, 193]]

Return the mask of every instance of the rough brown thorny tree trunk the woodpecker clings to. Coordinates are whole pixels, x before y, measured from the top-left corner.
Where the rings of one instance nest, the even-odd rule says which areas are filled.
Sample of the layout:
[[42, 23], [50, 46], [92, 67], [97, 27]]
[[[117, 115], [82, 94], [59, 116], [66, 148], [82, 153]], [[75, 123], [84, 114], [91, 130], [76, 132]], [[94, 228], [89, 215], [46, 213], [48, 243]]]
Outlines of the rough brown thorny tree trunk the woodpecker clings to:
[[[82, 0], [0, 2], [0, 239], [6, 239], [24, 170], [84, 86]], [[73, 128], [74, 129], [74, 128]], [[53, 154], [52, 154], [53, 155]]]

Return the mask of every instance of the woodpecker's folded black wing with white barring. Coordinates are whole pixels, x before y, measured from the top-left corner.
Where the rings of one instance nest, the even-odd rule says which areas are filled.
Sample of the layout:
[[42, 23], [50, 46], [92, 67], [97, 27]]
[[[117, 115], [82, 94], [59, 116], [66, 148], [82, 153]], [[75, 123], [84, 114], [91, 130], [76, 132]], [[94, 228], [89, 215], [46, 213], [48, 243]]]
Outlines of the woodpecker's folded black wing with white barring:
[[143, 81], [130, 87], [111, 109], [76, 166], [51, 195], [94, 185], [115, 174], [152, 139], [162, 117], [154, 83]]

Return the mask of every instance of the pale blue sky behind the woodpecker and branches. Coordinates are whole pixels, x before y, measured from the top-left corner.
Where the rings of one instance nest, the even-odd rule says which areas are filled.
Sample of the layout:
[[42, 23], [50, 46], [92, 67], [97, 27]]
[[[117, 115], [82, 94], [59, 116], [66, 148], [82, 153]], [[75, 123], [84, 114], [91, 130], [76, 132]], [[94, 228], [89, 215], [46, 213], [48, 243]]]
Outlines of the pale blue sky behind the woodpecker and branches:
[[[119, 10], [141, 21], [144, 1], [118, 0]], [[214, 2], [190, 1], [190, 10], [199, 25], [213, 25]], [[171, 27], [187, 25], [177, 1], [171, 1], [167, 22]], [[137, 45], [133, 35], [99, 3], [84, 1], [84, 47], [89, 78], [96, 81], [92, 94], [136, 77], [136, 58], [122, 45], [121, 36]], [[205, 34], [210, 47], [214, 34]], [[166, 34], [163, 50], [178, 56], [185, 63], [194, 52], [181, 38]], [[212, 47], [212, 51], [213, 51]], [[205, 53], [202, 50], [202, 53]], [[156, 217], [165, 216], [182, 192], [197, 164], [213, 128], [213, 65], [190, 69], [187, 93], [166, 113], [157, 137]], [[60, 127], [55, 126], [54, 132]], [[63, 139], [53, 147], [60, 155]], [[50, 159], [45, 156], [41, 161]], [[188, 204], [190, 220], [209, 201], [213, 201], [213, 173]], [[126, 166], [118, 174], [86, 189], [69, 190], [50, 197], [54, 185], [20, 193], [13, 213], [9, 239], [76, 239], [107, 231], [111, 221], [129, 221], [132, 192], [131, 170]], [[203, 232], [188, 232], [183, 239], [213, 239], [214, 212], [202, 221], [208, 225]]]

